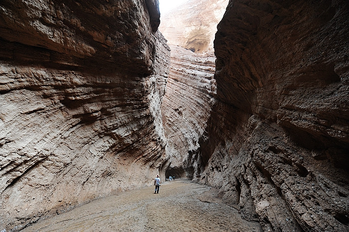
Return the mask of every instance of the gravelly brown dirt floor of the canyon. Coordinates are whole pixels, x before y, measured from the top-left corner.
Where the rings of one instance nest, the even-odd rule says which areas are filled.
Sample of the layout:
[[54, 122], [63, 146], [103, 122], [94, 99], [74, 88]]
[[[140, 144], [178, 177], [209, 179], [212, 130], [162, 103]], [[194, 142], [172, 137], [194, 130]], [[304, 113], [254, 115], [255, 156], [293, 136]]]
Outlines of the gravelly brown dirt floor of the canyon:
[[[201, 199], [201, 200], [199, 200]], [[176, 180], [93, 201], [22, 232], [261, 232], [209, 187]]]

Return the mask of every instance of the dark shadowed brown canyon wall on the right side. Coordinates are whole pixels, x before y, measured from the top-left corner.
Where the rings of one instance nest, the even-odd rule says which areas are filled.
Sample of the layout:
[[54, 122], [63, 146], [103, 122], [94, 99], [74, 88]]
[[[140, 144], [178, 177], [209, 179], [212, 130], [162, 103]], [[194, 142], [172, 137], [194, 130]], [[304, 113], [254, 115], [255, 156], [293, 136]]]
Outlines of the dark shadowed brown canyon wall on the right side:
[[234, 0], [218, 25], [200, 181], [264, 231], [349, 230], [348, 25], [343, 0]]

